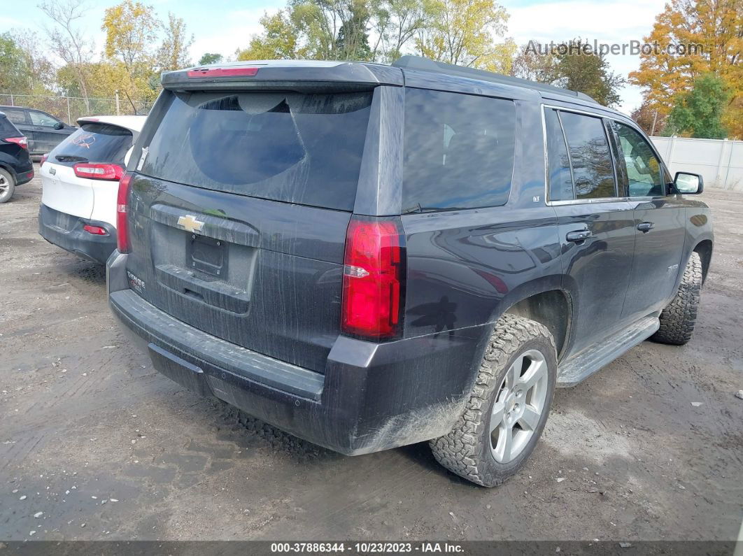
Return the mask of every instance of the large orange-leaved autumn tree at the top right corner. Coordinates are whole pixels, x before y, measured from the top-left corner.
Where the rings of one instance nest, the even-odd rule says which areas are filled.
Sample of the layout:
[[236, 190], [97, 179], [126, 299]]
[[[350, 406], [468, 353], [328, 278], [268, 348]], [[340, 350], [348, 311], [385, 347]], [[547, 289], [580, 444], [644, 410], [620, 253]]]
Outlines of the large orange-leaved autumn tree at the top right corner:
[[741, 0], [671, 0], [645, 42], [658, 48], [640, 54], [640, 68], [629, 73], [629, 81], [643, 88], [653, 109], [669, 114], [695, 79], [711, 72], [729, 92], [722, 120], [743, 136]]

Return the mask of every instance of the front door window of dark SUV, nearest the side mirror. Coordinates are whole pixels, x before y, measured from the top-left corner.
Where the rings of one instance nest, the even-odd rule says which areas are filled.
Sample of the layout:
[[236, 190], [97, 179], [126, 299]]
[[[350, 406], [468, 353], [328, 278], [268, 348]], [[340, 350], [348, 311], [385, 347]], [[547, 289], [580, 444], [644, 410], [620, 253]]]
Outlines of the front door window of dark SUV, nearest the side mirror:
[[630, 197], [658, 197], [664, 194], [663, 167], [642, 135], [629, 125], [613, 122], [619, 138], [620, 157], [626, 166]]

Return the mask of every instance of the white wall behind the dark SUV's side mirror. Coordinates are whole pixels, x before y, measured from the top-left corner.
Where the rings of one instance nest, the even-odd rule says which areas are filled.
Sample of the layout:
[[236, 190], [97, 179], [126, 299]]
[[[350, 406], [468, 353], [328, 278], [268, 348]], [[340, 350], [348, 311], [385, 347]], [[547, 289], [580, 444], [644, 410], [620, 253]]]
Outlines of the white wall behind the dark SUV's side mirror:
[[651, 137], [672, 175], [691, 171], [705, 187], [743, 192], [743, 141]]

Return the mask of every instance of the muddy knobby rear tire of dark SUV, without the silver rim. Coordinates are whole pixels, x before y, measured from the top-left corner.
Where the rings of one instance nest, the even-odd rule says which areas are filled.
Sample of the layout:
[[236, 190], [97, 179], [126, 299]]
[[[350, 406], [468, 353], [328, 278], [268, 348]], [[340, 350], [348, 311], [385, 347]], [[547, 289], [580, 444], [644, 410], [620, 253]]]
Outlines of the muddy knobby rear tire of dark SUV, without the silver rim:
[[[548, 365], [545, 408], [522, 453], [510, 462], [500, 463], [490, 452], [490, 413], [508, 368], [517, 356], [530, 349], [539, 350]], [[490, 336], [464, 413], [449, 434], [429, 442], [436, 460], [452, 473], [487, 487], [501, 485], [516, 474], [547, 422], [557, 379], [556, 351], [554, 338], [542, 324], [516, 315], [503, 315]]]

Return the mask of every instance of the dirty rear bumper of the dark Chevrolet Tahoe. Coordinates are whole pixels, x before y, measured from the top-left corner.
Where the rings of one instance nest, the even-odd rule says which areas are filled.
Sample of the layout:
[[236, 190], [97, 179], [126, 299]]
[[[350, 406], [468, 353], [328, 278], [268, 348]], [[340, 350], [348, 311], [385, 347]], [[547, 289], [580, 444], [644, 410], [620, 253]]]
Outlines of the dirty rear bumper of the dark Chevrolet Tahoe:
[[481, 327], [374, 344], [339, 336], [325, 373], [210, 336], [149, 304], [107, 265], [109, 304], [160, 373], [342, 454], [447, 434], [464, 409], [484, 350]]

